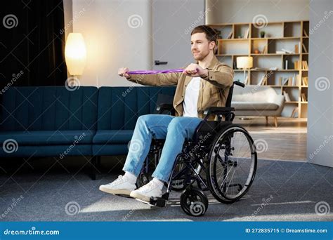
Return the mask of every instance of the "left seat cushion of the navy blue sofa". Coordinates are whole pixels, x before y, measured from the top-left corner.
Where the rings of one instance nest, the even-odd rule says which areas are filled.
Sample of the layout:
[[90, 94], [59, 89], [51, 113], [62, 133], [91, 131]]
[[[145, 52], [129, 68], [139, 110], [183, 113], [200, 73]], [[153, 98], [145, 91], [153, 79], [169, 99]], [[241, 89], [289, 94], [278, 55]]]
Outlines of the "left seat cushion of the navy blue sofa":
[[2, 131], [0, 142], [13, 139], [20, 145], [82, 145], [91, 144], [95, 131]]

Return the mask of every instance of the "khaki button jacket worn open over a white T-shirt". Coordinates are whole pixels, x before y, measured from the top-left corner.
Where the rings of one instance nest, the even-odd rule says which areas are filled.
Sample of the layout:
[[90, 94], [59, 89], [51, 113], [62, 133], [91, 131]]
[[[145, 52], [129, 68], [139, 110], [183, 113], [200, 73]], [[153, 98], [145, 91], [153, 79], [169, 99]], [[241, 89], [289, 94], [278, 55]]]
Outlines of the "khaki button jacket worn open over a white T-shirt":
[[[204, 110], [208, 107], [225, 107], [230, 86], [233, 85], [233, 69], [214, 56], [208, 69], [208, 76], [200, 81], [197, 99], [198, 117], [204, 118]], [[145, 86], [177, 86], [174, 95], [176, 116], [183, 116], [183, 100], [185, 90], [192, 76], [181, 72], [168, 74], [132, 74], [129, 81]]]

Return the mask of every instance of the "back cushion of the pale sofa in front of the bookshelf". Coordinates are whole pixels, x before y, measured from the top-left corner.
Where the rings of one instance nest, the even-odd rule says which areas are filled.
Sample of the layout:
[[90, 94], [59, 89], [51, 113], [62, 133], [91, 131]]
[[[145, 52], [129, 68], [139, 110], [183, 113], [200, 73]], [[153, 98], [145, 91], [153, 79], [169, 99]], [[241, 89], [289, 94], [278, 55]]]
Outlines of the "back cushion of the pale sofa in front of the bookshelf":
[[273, 102], [275, 90], [270, 86], [249, 85], [244, 88], [235, 86], [233, 102]]

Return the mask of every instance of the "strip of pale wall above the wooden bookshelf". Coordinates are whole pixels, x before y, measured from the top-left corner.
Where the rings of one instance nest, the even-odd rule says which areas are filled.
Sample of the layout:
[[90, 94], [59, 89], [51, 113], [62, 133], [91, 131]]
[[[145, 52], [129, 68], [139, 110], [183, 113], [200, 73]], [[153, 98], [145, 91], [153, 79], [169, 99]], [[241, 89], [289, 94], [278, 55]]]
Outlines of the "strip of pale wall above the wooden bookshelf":
[[308, 20], [309, 0], [206, 0], [206, 23], [252, 22], [265, 15], [268, 22]]

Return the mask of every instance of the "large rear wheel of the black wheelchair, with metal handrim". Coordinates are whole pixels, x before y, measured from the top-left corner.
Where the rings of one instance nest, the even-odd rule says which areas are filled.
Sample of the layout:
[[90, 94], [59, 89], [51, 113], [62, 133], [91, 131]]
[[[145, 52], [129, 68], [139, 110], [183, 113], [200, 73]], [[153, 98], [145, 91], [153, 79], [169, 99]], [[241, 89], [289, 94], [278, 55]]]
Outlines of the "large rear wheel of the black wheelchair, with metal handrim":
[[208, 155], [207, 183], [211, 194], [224, 204], [240, 199], [256, 174], [256, 147], [247, 131], [230, 125], [218, 133]]

